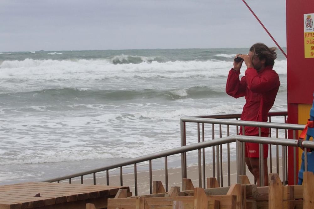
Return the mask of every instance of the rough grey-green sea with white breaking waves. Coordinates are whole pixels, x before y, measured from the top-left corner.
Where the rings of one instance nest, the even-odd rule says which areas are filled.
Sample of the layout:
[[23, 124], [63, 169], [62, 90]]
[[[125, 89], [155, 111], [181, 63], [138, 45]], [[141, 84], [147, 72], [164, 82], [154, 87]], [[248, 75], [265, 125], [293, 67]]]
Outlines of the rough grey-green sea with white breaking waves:
[[[0, 184], [176, 148], [181, 117], [241, 113], [244, 98], [225, 93], [238, 53], [248, 48], [0, 52]], [[286, 111], [280, 51], [274, 70], [281, 86], [271, 111]], [[196, 131], [187, 129], [187, 144]]]

